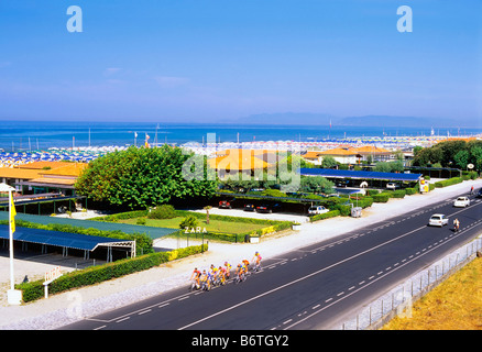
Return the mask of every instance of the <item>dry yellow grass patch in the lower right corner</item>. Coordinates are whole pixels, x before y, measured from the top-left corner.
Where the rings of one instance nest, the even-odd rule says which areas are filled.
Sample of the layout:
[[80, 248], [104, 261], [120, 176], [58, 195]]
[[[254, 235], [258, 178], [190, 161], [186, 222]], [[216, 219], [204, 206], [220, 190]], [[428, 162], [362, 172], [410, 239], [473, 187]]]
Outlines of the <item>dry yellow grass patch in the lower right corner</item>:
[[482, 330], [482, 258], [450, 276], [382, 330]]

